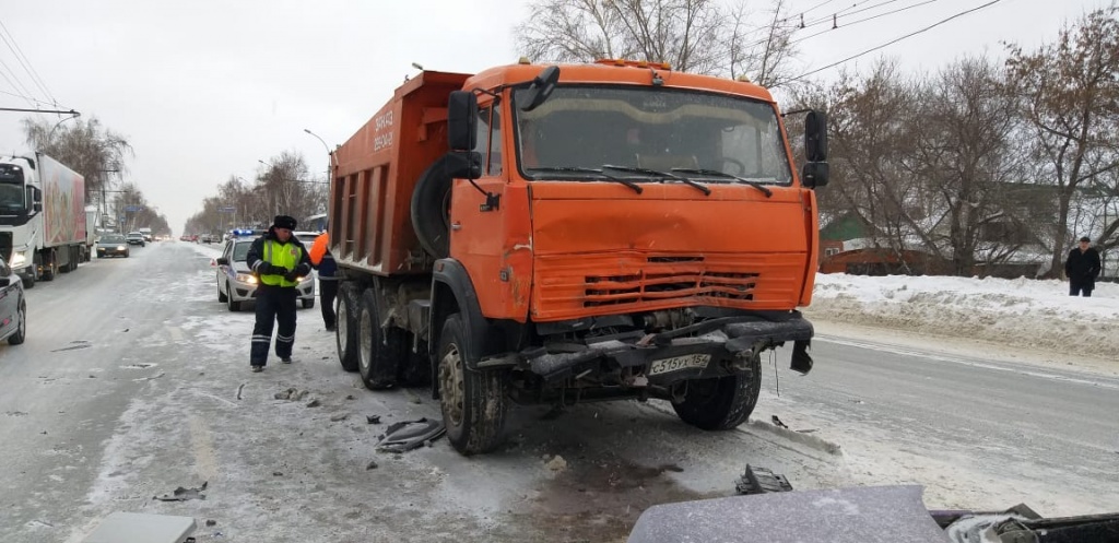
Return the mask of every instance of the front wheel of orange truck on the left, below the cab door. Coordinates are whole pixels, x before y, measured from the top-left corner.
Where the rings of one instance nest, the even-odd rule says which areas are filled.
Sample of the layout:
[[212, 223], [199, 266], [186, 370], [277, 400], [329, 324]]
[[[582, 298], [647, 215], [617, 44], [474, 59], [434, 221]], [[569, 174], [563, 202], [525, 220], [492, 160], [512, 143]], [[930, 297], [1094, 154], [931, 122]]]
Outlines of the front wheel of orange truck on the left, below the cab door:
[[471, 456], [501, 444], [509, 396], [505, 372], [467, 367], [466, 337], [461, 317], [449, 316], [439, 336], [439, 397], [448, 440]]

